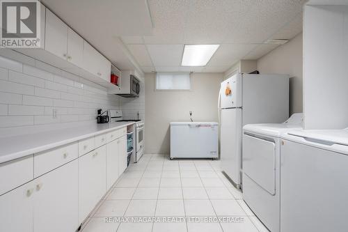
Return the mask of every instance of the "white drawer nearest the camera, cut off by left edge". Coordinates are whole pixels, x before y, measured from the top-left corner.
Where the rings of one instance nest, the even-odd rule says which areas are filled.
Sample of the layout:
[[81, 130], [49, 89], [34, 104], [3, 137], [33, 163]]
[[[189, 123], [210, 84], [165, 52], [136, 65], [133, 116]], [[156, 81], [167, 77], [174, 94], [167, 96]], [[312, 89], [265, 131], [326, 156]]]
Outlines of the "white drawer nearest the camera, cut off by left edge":
[[34, 178], [33, 155], [0, 164], [0, 195]]

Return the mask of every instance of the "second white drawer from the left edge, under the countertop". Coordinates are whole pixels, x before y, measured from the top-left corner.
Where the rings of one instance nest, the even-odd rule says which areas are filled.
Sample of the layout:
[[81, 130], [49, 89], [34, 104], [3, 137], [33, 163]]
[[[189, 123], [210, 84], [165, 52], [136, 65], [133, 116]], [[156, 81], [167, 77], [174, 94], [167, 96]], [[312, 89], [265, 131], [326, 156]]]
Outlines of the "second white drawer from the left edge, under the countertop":
[[34, 154], [34, 178], [76, 159], [79, 157], [78, 149], [76, 142]]

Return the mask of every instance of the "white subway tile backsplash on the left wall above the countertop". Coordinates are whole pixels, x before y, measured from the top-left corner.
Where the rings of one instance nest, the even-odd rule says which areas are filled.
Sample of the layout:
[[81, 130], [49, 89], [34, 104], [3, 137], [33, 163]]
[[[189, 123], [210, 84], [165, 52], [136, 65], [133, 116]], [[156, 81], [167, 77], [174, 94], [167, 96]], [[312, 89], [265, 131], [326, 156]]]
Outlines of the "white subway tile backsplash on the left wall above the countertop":
[[[36, 67], [0, 56], [0, 132], [11, 127], [35, 130], [35, 125], [93, 123], [100, 108], [122, 109], [127, 118], [136, 118], [139, 111], [145, 117], [144, 94], [136, 99], [109, 95], [106, 88], [81, 77], [19, 53], [15, 57], [30, 59]], [[143, 83], [142, 87], [143, 92]]]

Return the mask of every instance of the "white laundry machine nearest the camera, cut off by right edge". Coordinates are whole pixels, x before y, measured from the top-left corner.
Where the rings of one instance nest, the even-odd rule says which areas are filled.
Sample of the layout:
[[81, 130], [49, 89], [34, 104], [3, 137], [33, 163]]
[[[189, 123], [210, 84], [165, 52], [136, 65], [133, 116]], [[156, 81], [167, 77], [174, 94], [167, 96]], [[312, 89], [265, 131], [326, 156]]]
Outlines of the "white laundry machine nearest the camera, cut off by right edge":
[[348, 231], [348, 130], [282, 135], [280, 231]]

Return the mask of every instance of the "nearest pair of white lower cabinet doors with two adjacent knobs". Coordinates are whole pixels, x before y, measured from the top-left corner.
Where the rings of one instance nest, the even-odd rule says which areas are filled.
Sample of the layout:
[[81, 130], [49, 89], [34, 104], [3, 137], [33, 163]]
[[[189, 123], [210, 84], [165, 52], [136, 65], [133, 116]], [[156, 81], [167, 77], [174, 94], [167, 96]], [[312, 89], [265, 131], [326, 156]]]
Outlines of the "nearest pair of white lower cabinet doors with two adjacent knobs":
[[0, 196], [0, 231], [76, 231], [77, 160]]

